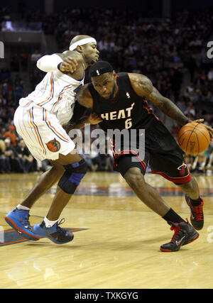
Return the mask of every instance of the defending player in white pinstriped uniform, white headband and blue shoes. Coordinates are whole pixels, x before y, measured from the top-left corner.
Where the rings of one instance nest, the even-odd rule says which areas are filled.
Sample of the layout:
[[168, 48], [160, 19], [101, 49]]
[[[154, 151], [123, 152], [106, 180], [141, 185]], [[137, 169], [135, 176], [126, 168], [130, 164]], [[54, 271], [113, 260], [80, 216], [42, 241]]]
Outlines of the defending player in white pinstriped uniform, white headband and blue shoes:
[[[45, 237], [58, 244], [73, 239], [72, 233], [60, 228], [58, 219], [84, 177], [87, 165], [80, 155], [71, 153], [75, 143], [62, 126], [72, 118], [75, 90], [84, 84], [85, 69], [98, 58], [96, 40], [77, 35], [71, 40], [70, 50], [38, 60], [37, 67], [46, 75], [34, 92], [19, 101], [13, 119], [16, 131], [36, 160], [48, 159], [53, 165], [40, 176], [26, 199], [5, 216], [6, 222], [23, 238], [37, 241]], [[88, 123], [97, 123], [95, 118], [90, 116]], [[57, 180], [57, 192], [47, 216], [31, 228], [28, 220], [31, 206]]]

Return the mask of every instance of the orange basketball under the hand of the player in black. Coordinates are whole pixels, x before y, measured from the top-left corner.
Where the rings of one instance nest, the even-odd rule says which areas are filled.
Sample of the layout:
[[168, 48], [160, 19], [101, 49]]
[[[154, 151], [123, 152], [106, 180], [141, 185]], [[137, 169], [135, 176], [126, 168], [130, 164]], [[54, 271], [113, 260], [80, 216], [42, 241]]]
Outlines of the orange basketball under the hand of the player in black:
[[202, 153], [209, 146], [209, 142], [209, 131], [201, 123], [187, 123], [178, 133], [180, 148], [189, 155]]

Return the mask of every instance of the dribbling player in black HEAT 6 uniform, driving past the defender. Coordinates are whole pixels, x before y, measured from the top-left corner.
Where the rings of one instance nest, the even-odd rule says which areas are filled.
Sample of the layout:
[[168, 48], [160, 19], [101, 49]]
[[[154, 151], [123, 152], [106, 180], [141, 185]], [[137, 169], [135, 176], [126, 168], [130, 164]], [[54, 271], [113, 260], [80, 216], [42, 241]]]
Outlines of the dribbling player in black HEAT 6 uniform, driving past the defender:
[[[136, 148], [131, 146], [131, 150], [122, 150], [121, 144], [119, 151], [114, 150], [116, 170], [121, 173], [138, 198], [163, 217], [175, 231], [172, 240], [161, 246], [160, 250], [180, 250], [181, 246], [195, 241], [199, 233], [145, 182], [147, 165], [150, 165], [153, 173], [174, 182], [186, 193], [185, 199], [192, 212], [191, 223], [196, 229], [201, 229], [204, 223], [203, 201], [200, 198], [197, 181], [190, 175], [182, 157], [182, 151], [168, 129], [148, 107], [146, 99], [180, 125], [185, 125], [190, 120], [172, 101], [163, 97], [143, 75], [125, 72], [116, 74], [111, 65], [104, 61], [94, 63], [90, 68], [90, 75], [92, 83], [81, 87], [77, 93], [77, 101], [82, 106], [93, 109], [102, 119], [99, 126], [104, 131], [109, 129], [121, 131], [124, 128], [129, 131], [145, 129], [144, 158], [138, 156], [138, 142]], [[202, 121], [197, 120], [200, 123]], [[81, 128], [83, 125], [82, 121], [75, 127]], [[209, 133], [212, 138], [212, 128], [209, 128]], [[134, 161], [133, 158], [136, 157], [139, 161]]]

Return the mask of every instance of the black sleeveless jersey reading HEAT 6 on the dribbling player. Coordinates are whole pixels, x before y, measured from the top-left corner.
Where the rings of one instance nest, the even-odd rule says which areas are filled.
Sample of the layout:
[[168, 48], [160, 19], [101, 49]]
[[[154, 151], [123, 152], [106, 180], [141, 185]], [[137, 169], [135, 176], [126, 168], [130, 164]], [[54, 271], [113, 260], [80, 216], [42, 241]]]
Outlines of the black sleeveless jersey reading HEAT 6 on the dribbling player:
[[113, 100], [102, 98], [89, 84], [89, 91], [93, 97], [93, 110], [103, 119], [99, 126], [107, 129], [126, 129], [144, 128], [151, 120], [157, 119], [153, 111], [148, 107], [146, 99], [138, 96], [129, 80], [126, 72], [119, 72], [116, 77], [119, 90]]

